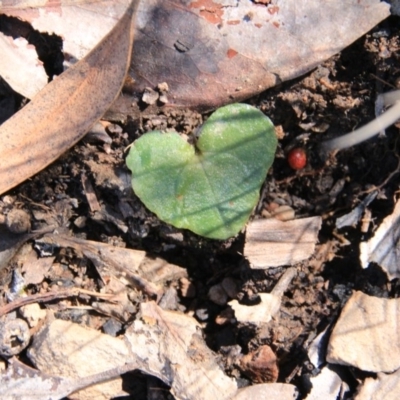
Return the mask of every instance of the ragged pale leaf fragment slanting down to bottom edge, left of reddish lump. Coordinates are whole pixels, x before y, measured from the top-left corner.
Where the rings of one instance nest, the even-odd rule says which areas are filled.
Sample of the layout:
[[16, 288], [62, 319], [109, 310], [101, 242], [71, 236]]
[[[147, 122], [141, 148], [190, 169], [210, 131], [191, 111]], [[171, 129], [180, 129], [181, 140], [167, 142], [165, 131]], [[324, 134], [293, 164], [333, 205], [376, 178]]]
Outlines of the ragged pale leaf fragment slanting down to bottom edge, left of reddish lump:
[[142, 303], [141, 314], [142, 321], [127, 330], [127, 342], [146, 361], [146, 372], [171, 386], [177, 400], [223, 400], [236, 393], [235, 381], [216, 363], [195, 319], [164, 311], [154, 302]]

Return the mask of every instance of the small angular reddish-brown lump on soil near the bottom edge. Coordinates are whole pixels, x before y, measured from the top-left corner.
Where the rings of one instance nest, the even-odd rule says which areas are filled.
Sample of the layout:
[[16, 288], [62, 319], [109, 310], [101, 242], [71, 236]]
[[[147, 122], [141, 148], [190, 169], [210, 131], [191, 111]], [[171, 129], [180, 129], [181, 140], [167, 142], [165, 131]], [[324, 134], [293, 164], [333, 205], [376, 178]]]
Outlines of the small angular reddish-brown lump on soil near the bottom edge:
[[279, 375], [276, 355], [267, 345], [243, 356], [240, 369], [255, 383], [276, 382]]

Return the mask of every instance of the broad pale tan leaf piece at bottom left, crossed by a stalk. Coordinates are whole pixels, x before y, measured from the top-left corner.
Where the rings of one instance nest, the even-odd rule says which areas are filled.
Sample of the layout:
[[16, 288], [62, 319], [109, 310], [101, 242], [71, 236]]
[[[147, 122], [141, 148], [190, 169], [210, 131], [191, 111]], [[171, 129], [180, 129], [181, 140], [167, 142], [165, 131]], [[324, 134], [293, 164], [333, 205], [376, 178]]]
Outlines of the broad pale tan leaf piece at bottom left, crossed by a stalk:
[[[93, 374], [98, 375], [92, 383], [116, 377], [84, 389], [76, 397], [81, 400], [109, 399], [124, 394], [122, 380], [117, 378], [119, 374], [109, 376], [109, 371], [128, 363], [133, 364], [131, 369], [138, 366], [122, 338], [60, 319], [48, 322], [34, 336], [28, 357], [42, 373], [59, 376], [64, 381], [68, 379], [75, 386], [79, 381], [87, 382]], [[68, 389], [70, 393], [72, 390]]]

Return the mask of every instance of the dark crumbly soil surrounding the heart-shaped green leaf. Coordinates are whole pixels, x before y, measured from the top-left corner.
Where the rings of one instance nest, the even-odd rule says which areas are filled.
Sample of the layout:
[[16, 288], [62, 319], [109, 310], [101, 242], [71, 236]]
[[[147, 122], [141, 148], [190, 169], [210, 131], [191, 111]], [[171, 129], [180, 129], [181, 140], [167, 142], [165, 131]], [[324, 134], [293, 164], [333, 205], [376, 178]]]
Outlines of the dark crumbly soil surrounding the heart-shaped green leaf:
[[[254, 303], [259, 301], [258, 293], [272, 290], [285, 268], [250, 269], [241, 255], [244, 233], [227, 241], [215, 241], [177, 230], [146, 210], [129, 187], [124, 157], [132, 141], [155, 128], [174, 128], [190, 135], [208, 115], [189, 110], [148, 114], [144, 110], [141, 120], [128, 117], [123, 124], [110, 125], [111, 144], [84, 139], [45, 171], [2, 196], [0, 209], [3, 214], [15, 208], [27, 211], [32, 230], [56, 225], [71, 235], [146, 250], [187, 268], [195, 297], [180, 296], [179, 282], [172, 281], [169, 286], [177, 290], [179, 297], [168, 307], [190, 312], [201, 322], [208, 345], [219, 355], [227, 373], [242, 386], [251, 384], [238, 367], [237, 346], [239, 354], [246, 354], [267, 344], [278, 358], [278, 382], [294, 383], [304, 396], [309, 377], [318, 372], [308, 360], [308, 346], [318, 333], [332, 326], [351, 290], [384, 297], [400, 294], [397, 280], [389, 282], [377, 266], [363, 270], [358, 258], [360, 241], [370, 237], [393, 209], [400, 171], [398, 127], [387, 129], [384, 137], [334, 155], [327, 156], [320, 150], [324, 140], [372, 120], [376, 96], [398, 88], [398, 26], [398, 19], [390, 18], [308, 75], [248, 100], [271, 118], [280, 139], [253, 218], [264, 215], [274, 204], [291, 206], [297, 217], [323, 218], [315, 254], [295, 265], [298, 275], [285, 293], [276, 321], [261, 327], [241, 325], [233, 318], [221, 323], [217, 317], [228, 312], [229, 307], [213, 303], [208, 292], [223, 279], [231, 278], [239, 288], [237, 298]], [[9, 92], [8, 99], [10, 96]], [[19, 98], [15, 104], [20, 104]], [[298, 146], [306, 149], [308, 164], [294, 171], [286, 155]], [[83, 175], [93, 185], [100, 211], [90, 210], [82, 186]], [[361, 230], [362, 222], [336, 229], [336, 218], [350, 212], [373, 190], [378, 195], [369, 207], [372, 215], [367, 229]], [[98, 273], [88, 260], [68, 249], [57, 250], [55, 255], [61, 268], [41, 284], [30, 285], [29, 293], [52, 285], [74, 286], [78, 276], [84, 282], [82, 287], [100, 288]], [[2, 293], [11, 281], [12, 267], [0, 271]], [[132, 299], [136, 306], [147, 298], [136, 292]], [[99, 329], [113, 319], [96, 311], [63, 310], [57, 303], [43, 307], [55, 309], [58, 318]], [[131, 319], [134, 317], [132, 314]], [[118, 333], [129, 322], [119, 321]], [[354, 374], [357, 377], [358, 372], [350, 375], [345, 370], [343, 374], [352, 393], [356, 387]], [[135, 375], [135, 379], [143, 382], [144, 378]], [[142, 386], [143, 397], [136, 392], [135, 399], [146, 398], [148, 389]], [[171, 398], [166, 391], [160, 393], [157, 398]]]

